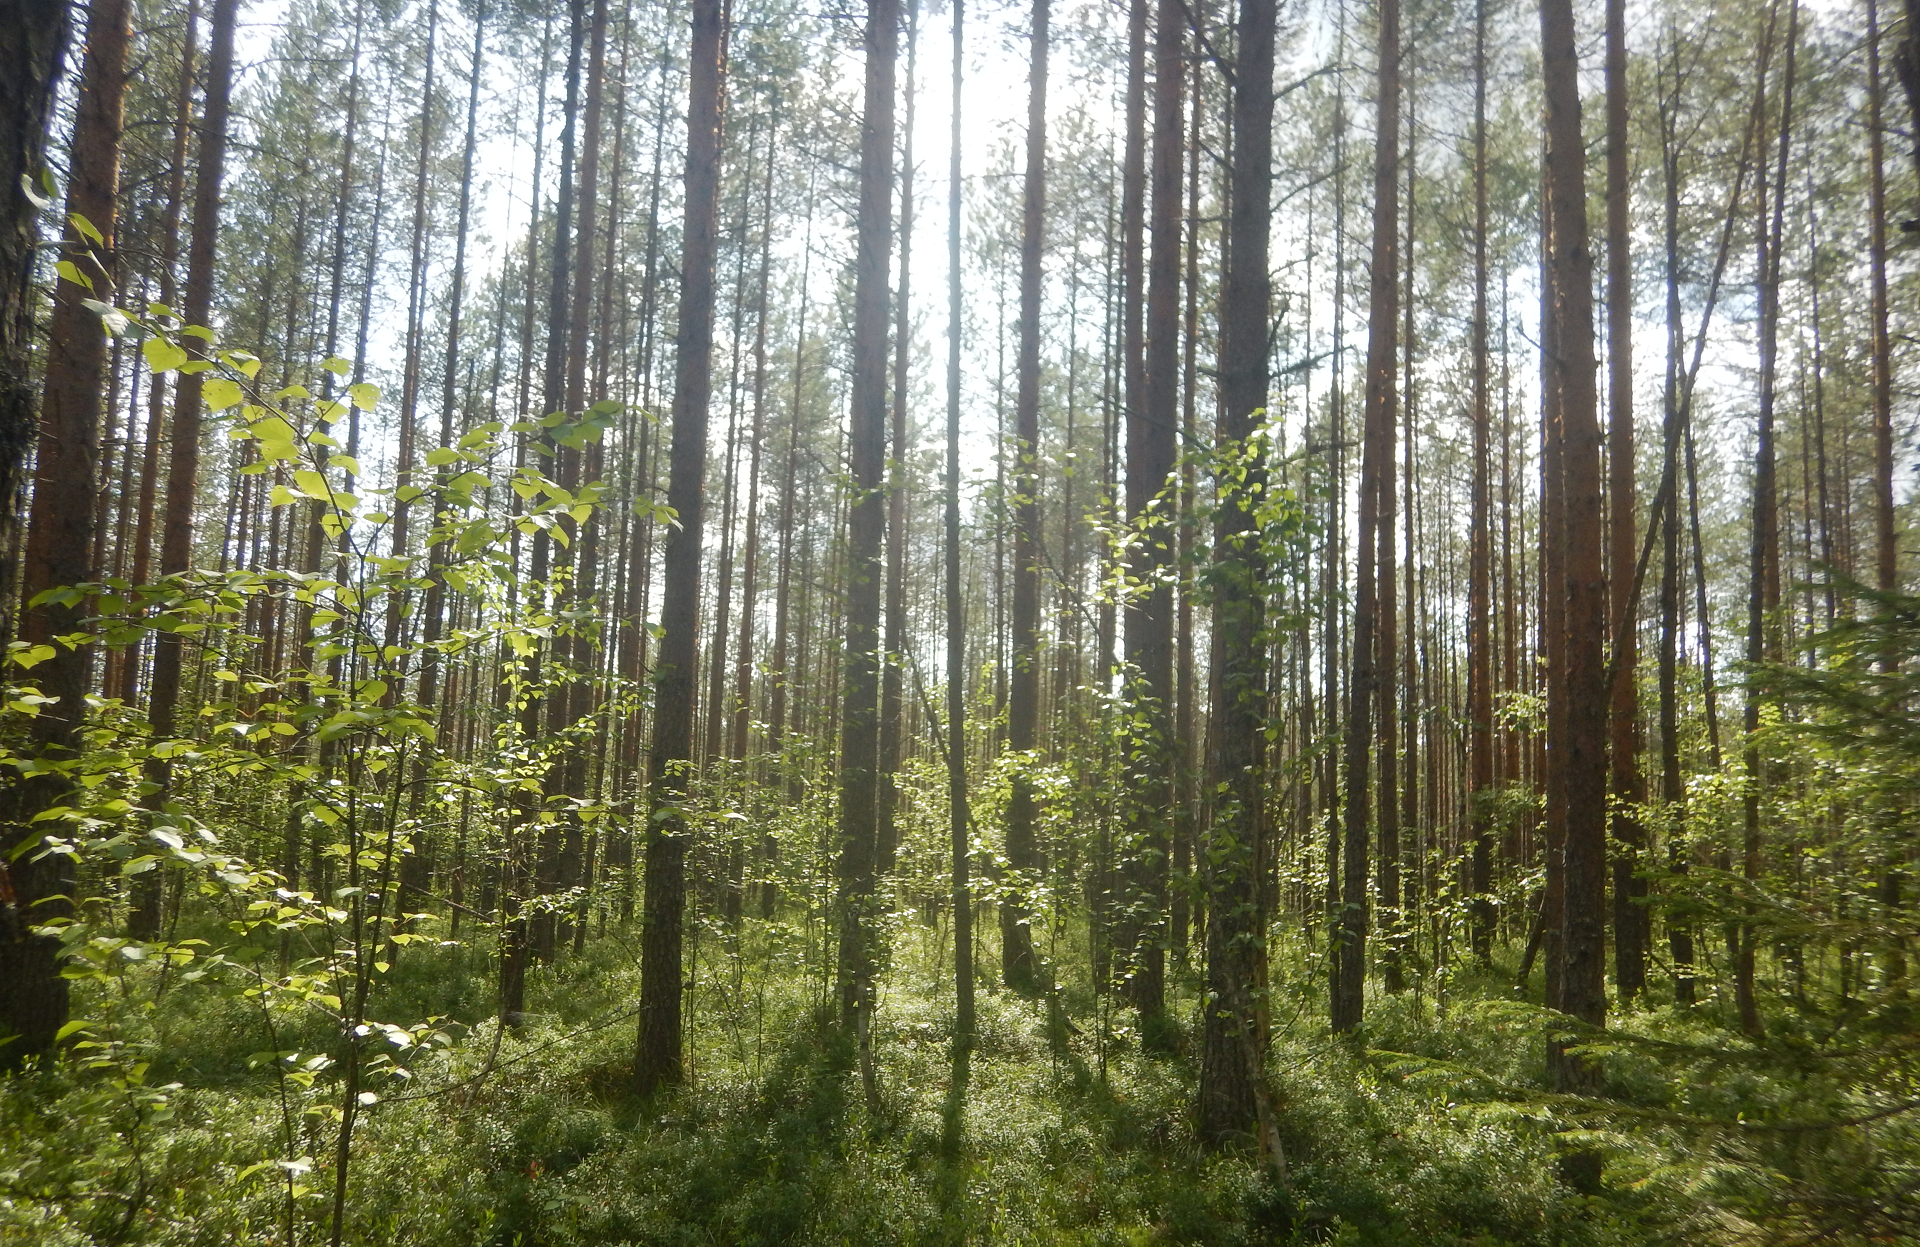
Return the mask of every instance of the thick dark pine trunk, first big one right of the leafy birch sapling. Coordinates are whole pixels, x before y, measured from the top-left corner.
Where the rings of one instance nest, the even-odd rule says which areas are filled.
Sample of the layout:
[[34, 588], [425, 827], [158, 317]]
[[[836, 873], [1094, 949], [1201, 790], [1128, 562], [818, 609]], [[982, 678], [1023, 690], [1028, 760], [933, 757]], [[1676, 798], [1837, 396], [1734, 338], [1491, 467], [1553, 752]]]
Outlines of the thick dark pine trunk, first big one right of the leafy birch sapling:
[[685, 227], [682, 232], [680, 340], [674, 377], [674, 442], [666, 505], [678, 523], [664, 553], [660, 657], [655, 667], [651, 815], [647, 820], [647, 918], [639, 961], [639, 1053], [634, 1089], [651, 1095], [680, 1082], [682, 930], [687, 909], [687, 842], [680, 813], [693, 767], [693, 699], [699, 672], [701, 509], [707, 478], [707, 405], [712, 396], [714, 217], [720, 204], [720, 125], [726, 31], [722, 0], [693, 0], [687, 58]]

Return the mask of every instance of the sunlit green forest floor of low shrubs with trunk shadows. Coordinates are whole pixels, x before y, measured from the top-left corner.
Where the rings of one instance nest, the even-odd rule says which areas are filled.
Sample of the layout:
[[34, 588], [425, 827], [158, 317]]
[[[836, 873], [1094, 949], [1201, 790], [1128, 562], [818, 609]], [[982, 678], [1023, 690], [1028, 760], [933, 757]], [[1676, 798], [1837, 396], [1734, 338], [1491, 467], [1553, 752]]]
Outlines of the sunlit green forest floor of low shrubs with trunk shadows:
[[[1448, 1009], [1415, 991], [1371, 1001], [1365, 1047], [1329, 1038], [1317, 976], [1277, 984], [1283, 1186], [1250, 1149], [1194, 1143], [1190, 968], [1171, 976], [1171, 1051], [1144, 1057], [1085, 974], [1023, 999], [983, 966], [956, 1080], [943, 940], [918, 922], [893, 934], [868, 1093], [820, 1009], [818, 932], [708, 926], [689, 1082], [647, 1105], [628, 1093], [637, 926], [538, 970], [530, 1016], [505, 1036], [484, 945], [405, 949], [372, 1016], [449, 1018], [449, 1041], [371, 1084], [344, 1241], [1703, 1241], [1690, 1226], [1707, 1230], [1711, 1205], [1678, 1153], [1645, 1134], [1567, 1134], [1576, 1122], [1544, 1107], [1538, 1020], [1490, 1005], [1513, 995], [1498, 968], [1455, 974]], [[265, 1024], [244, 997], [179, 984], [113, 1032], [152, 1061], [132, 1091], [163, 1089], [157, 1109], [131, 1107], [125, 1078], [73, 1070], [0, 1097], [0, 1241], [286, 1243], [290, 1209], [298, 1243], [328, 1241], [338, 1088], [273, 1072], [328, 1036]], [[1555, 1176], [1569, 1139], [1607, 1155], [1597, 1195]]]

